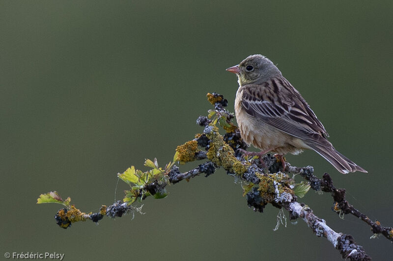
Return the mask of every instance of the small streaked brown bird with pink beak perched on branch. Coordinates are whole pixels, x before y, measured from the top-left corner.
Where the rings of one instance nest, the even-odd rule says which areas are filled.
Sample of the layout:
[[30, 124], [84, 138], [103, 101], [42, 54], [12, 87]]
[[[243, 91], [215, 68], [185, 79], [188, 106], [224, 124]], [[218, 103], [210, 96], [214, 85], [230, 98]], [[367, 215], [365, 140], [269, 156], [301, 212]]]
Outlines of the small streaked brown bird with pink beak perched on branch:
[[285, 169], [283, 155], [311, 149], [340, 173], [367, 172], [333, 147], [309, 104], [271, 60], [254, 54], [226, 71], [238, 76], [235, 116], [240, 136], [261, 150], [258, 156], [276, 153]]

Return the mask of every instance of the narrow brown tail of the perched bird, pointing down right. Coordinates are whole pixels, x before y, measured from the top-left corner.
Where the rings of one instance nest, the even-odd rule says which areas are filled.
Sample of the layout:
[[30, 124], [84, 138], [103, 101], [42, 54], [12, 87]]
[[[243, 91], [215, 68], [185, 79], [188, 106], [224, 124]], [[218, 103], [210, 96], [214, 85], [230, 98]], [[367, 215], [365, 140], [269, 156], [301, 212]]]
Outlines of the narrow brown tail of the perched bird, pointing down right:
[[319, 144], [312, 142], [308, 144], [315, 152], [325, 158], [330, 164], [332, 164], [342, 174], [348, 172], [367, 172], [363, 167], [356, 165], [353, 161], [339, 153], [333, 146], [332, 143], [326, 141], [327, 144]]

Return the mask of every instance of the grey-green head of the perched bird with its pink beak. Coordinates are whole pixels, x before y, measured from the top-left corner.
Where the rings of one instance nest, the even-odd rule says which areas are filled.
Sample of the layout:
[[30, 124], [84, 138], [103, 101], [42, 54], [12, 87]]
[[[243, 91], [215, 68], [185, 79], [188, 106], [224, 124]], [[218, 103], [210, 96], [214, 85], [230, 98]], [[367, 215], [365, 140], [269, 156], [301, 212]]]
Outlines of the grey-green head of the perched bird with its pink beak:
[[263, 55], [254, 54], [244, 59], [240, 64], [226, 69], [236, 73], [239, 84], [263, 83], [273, 76], [281, 76], [281, 71]]

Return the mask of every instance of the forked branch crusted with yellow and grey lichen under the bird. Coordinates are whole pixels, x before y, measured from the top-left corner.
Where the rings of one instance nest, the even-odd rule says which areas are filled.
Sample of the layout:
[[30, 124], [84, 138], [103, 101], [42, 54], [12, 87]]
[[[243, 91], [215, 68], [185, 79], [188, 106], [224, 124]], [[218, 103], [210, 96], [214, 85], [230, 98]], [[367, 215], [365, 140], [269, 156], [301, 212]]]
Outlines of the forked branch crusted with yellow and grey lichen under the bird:
[[[202, 173], [207, 177], [217, 168], [224, 168], [229, 175], [241, 180], [243, 195], [246, 196], [248, 206], [253, 207], [254, 211], [262, 213], [269, 204], [287, 210], [290, 219], [301, 218], [316, 236], [326, 237], [344, 259], [370, 260], [352, 236], [335, 232], [325, 220], [313, 214], [309, 207], [298, 202], [309, 188], [330, 192], [335, 201], [333, 209], [340, 216], [353, 214], [370, 225], [374, 235], [382, 234], [392, 240], [393, 229], [382, 227], [378, 221], [371, 221], [349, 204], [345, 200], [345, 190], [337, 190], [329, 174], [325, 173], [320, 179], [314, 175], [312, 166], [296, 167], [287, 162], [284, 165], [281, 162], [282, 158], [270, 154], [263, 158], [242, 155], [242, 151], [247, 149], [247, 144], [243, 142], [239, 129], [232, 123], [233, 114], [225, 109], [226, 99], [223, 95], [215, 93], [208, 94], [207, 97], [214, 105], [214, 110], [209, 110], [207, 117], [200, 116], [197, 119], [197, 124], [203, 127], [203, 131], [196, 134], [191, 141], [179, 145], [172, 162], [160, 167], [156, 159], [147, 159], [144, 163], [144, 166], [149, 168], [147, 171], [131, 166], [123, 173], [118, 173], [118, 177], [130, 186], [130, 189], [125, 191], [123, 202], [117, 201], [108, 207], [103, 205], [100, 212], [86, 214], [71, 205], [70, 198], [63, 200], [53, 191], [41, 194], [37, 203], [52, 202], [64, 205], [65, 208], [59, 210], [55, 218], [60, 227], [68, 228], [78, 221], [90, 219], [98, 222], [104, 216], [121, 217], [124, 214], [141, 213], [141, 207], [135, 207], [134, 202], [141, 202], [148, 196], [156, 199], [165, 198], [168, 195], [168, 185], [190, 180]], [[220, 127], [224, 129], [224, 135], [220, 134]], [[174, 165], [176, 162], [186, 164], [200, 160], [205, 162], [186, 172], [181, 172], [179, 167]], [[282, 166], [285, 166], [285, 169], [282, 169]], [[301, 176], [304, 180], [296, 182], [295, 176]]]

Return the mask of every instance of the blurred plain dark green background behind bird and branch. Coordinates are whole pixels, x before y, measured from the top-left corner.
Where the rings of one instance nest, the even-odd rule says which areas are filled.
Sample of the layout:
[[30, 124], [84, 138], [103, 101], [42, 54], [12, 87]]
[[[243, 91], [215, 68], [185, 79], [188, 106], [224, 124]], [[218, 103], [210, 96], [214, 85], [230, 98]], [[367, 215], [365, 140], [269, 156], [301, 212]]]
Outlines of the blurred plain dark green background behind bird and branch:
[[[393, 2], [386, 1], [1, 1], [1, 241], [4, 252], [57, 252], [64, 260], [340, 260], [325, 238], [278, 209], [254, 213], [220, 169], [148, 198], [127, 215], [55, 224], [57, 190], [84, 212], [112, 204], [116, 174], [145, 158], [172, 159], [202, 128], [207, 92], [228, 99], [226, 68], [261, 53], [278, 65], [324, 123], [341, 153], [369, 171], [339, 174], [312, 151], [295, 166], [329, 172], [359, 210], [393, 226], [391, 195]], [[199, 163], [188, 164], [191, 169]], [[116, 199], [127, 185], [119, 182]], [[301, 202], [373, 260], [392, 244], [327, 193]]]

